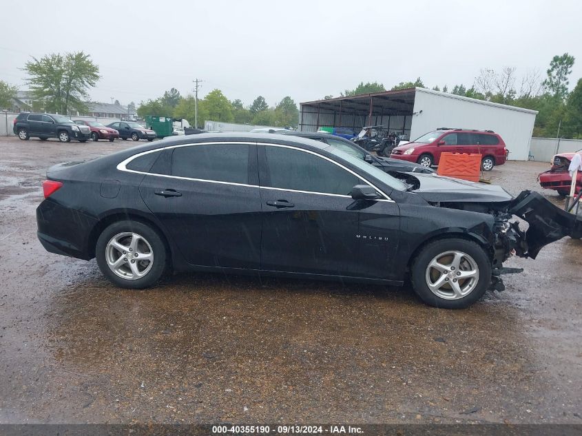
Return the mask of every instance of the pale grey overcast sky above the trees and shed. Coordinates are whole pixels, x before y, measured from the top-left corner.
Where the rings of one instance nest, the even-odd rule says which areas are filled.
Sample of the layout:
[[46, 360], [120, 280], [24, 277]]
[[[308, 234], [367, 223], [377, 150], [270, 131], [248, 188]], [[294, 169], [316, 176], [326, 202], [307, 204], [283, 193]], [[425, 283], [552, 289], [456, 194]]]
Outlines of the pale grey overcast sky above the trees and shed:
[[[545, 76], [554, 54], [582, 77], [581, 1], [38, 1], [0, 18], [0, 80], [25, 87], [30, 56], [83, 50], [99, 65], [94, 101], [219, 88], [245, 105], [387, 89], [472, 85], [481, 68]], [[14, 3], [16, 6], [17, 3]], [[6, 6], [6, 5], [5, 5]], [[6, 12], [6, 7], [3, 8]], [[17, 18], [18, 17], [18, 18]]]

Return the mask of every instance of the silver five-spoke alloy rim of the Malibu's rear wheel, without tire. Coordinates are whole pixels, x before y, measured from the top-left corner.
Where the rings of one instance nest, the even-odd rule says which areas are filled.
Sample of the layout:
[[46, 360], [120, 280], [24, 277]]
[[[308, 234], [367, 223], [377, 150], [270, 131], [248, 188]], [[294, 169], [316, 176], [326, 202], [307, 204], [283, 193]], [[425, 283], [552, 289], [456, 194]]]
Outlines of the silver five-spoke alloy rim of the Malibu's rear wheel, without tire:
[[152, 269], [154, 251], [143, 236], [126, 231], [116, 234], [107, 242], [105, 260], [116, 276], [137, 280]]

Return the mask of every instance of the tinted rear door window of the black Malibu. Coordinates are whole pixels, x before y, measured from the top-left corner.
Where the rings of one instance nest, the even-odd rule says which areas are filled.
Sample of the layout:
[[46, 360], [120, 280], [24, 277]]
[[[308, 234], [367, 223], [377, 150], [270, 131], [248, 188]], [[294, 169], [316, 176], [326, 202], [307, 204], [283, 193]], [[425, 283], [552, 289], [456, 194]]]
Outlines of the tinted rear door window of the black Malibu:
[[249, 145], [207, 144], [176, 147], [172, 176], [249, 183]]

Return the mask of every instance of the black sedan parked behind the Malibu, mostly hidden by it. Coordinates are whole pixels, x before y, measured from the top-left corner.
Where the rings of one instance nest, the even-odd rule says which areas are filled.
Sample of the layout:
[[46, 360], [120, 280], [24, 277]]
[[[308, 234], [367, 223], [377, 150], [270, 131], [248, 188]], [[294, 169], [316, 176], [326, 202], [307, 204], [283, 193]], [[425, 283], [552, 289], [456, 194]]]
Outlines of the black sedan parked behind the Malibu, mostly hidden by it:
[[321, 141], [329, 145], [333, 145], [346, 153], [355, 156], [356, 158], [365, 160], [367, 163], [371, 163], [375, 167], [382, 169], [384, 172], [417, 172], [422, 174], [432, 174], [435, 170], [429, 167], [424, 167], [423, 165], [406, 162], [406, 160], [399, 160], [393, 158], [383, 158], [380, 156], [374, 156], [368, 150], [363, 149], [360, 145], [353, 143], [341, 136], [335, 136], [329, 133], [322, 132], [294, 132], [293, 130], [285, 132], [276, 132], [277, 134], [283, 135], [293, 135], [299, 136], [300, 138], [309, 138], [315, 141]]

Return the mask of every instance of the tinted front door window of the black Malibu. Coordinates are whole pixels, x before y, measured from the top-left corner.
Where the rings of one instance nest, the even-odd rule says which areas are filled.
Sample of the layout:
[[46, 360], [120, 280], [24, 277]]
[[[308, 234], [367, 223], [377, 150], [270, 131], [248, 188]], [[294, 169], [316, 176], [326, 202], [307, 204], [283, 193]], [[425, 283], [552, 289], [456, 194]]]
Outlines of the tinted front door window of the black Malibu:
[[286, 147], [265, 147], [271, 187], [349, 195], [360, 178], [320, 156]]

